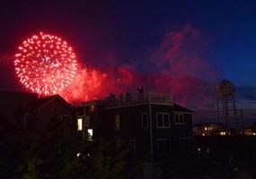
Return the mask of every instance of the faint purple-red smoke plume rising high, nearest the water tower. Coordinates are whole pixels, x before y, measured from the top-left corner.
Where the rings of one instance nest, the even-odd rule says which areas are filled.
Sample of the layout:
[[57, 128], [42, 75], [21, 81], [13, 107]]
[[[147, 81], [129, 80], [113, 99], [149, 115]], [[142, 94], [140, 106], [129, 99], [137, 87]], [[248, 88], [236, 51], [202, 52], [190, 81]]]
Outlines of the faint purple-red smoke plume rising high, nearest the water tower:
[[205, 106], [212, 102], [216, 72], [201, 57], [201, 41], [199, 30], [189, 25], [166, 35], [154, 56], [153, 64], [159, 69], [155, 90], [171, 93], [181, 104]]

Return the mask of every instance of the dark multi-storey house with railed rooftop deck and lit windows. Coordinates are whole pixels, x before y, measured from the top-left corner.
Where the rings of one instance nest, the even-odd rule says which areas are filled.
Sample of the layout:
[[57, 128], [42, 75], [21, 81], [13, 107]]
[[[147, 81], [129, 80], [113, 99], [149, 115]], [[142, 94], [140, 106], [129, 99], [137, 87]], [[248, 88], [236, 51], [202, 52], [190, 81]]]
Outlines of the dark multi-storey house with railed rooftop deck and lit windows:
[[84, 102], [77, 109], [77, 130], [93, 135], [102, 130], [113, 140], [124, 140], [147, 161], [165, 158], [193, 140], [193, 111], [173, 103], [169, 95], [113, 94]]

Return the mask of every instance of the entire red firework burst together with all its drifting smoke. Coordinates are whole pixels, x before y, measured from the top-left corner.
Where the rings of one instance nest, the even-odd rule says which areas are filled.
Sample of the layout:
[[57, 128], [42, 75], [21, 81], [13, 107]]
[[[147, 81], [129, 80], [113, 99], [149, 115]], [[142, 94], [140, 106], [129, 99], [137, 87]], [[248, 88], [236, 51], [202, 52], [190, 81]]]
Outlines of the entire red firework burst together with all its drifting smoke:
[[211, 94], [215, 94], [212, 84], [216, 73], [201, 56], [204, 47], [199, 44], [200, 35], [190, 26], [167, 33], [160, 47], [143, 61], [145, 72], [140, 72], [136, 65], [116, 60], [115, 55], [101, 59], [97, 66], [83, 67], [75, 61], [66, 41], [40, 33], [19, 47], [15, 72], [27, 89], [41, 95], [59, 94], [71, 103], [128, 90], [132, 93], [144, 86], [145, 90], [171, 94], [175, 102], [183, 105], [206, 107]]

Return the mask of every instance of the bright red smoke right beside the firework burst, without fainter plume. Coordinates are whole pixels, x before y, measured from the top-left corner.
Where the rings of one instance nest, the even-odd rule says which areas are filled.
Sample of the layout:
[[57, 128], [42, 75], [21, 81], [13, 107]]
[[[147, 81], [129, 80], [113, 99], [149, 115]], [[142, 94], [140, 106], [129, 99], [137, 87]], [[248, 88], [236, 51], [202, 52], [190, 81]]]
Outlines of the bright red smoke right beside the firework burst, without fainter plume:
[[84, 67], [75, 76], [70, 89], [60, 95], [72, 103], [106, 98], [110, 93], [124, 93], [131, 86], [137, 86], [138, 79], [137, 73], [126, 66], [106, 72]]

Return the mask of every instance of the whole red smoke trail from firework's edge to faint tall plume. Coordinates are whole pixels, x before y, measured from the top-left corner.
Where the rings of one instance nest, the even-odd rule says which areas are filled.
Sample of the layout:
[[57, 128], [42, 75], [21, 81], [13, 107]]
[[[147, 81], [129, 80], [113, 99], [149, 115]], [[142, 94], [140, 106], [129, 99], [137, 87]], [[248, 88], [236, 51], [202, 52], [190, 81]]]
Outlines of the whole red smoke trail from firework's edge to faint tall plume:
[[201, 57], [201, 41], [199, 30], [189, 25], [171, 31], [145, 62], [147, 72], [111, 59], [101, 71], [97, 66], [80, 70], [70, 93], [64, 97], [73, 102], [105, 98], [142, 85], [146, 90], [171, 94], [174, 101], [183, 105], [206, 107], [214, 97], [216, 73]]

